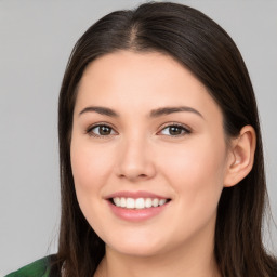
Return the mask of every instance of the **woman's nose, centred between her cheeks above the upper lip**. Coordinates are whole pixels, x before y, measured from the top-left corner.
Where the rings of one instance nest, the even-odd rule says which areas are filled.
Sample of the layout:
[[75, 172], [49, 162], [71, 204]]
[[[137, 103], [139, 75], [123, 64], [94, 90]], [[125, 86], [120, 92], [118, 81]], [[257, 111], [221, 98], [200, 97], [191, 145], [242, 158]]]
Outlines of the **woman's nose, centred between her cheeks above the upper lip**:
[[155, 158], [147, 142], [135, 137], [119, 147], [116, 171], [131, 182], [149, 180], [156, 175]]

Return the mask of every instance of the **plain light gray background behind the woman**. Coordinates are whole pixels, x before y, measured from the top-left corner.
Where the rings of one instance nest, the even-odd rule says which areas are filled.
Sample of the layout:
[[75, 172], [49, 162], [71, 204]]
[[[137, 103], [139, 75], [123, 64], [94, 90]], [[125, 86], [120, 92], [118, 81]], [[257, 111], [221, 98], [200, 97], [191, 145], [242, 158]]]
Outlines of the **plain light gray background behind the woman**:
[[[0, 0], [0, 275], [56, 250], [57, 95], [74, 43], [132, 0]], [[277, 1], [179, 1], [205, 12], [240, 49], [255, 89], [277, 219]], [[272, 227], [277, 252], [277, 234]]]

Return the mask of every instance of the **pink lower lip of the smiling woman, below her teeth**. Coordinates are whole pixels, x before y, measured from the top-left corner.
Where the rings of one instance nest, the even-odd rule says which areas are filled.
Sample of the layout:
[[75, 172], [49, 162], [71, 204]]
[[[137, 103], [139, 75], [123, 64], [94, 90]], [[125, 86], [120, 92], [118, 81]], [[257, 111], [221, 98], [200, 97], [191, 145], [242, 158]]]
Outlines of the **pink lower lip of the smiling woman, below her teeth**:
[[113, 213], [116, 216], [120, 217], [121, 220], [130, 221], [130, 222], [141, 222], [141, 221], [149, 220], [160, 214], [168, 207], [168, 203], [169, 203], [167, 202], [162, 206], [151, 207], [146, 209], [124, 209], [124, 208], [113, 205], [110, 201], [107, 201], [107, 202]]

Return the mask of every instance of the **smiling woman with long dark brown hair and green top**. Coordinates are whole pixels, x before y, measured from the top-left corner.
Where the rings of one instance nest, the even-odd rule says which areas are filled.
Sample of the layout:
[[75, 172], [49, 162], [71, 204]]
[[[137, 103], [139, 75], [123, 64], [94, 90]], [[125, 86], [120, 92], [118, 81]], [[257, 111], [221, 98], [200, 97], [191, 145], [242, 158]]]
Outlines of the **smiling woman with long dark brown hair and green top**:
[[202, 13], [147, 3], [89, 28], [58, 135], [58, 252], [9, 276], [276, 275], [253, 89]]

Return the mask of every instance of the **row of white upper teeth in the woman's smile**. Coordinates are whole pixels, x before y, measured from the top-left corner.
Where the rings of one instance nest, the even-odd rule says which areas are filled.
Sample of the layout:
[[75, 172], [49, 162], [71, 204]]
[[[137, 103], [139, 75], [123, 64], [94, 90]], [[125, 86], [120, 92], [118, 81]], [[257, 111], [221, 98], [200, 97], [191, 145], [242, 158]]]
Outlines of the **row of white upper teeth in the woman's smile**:
[[114, 203], [117, 207], [127, 208], [127, 209], [146, 209], [151, 207], [162, 206], [167, 202], [167, 199], [158, 198], [124, 198], [124, 197], [115, 197], [113, 198]]

